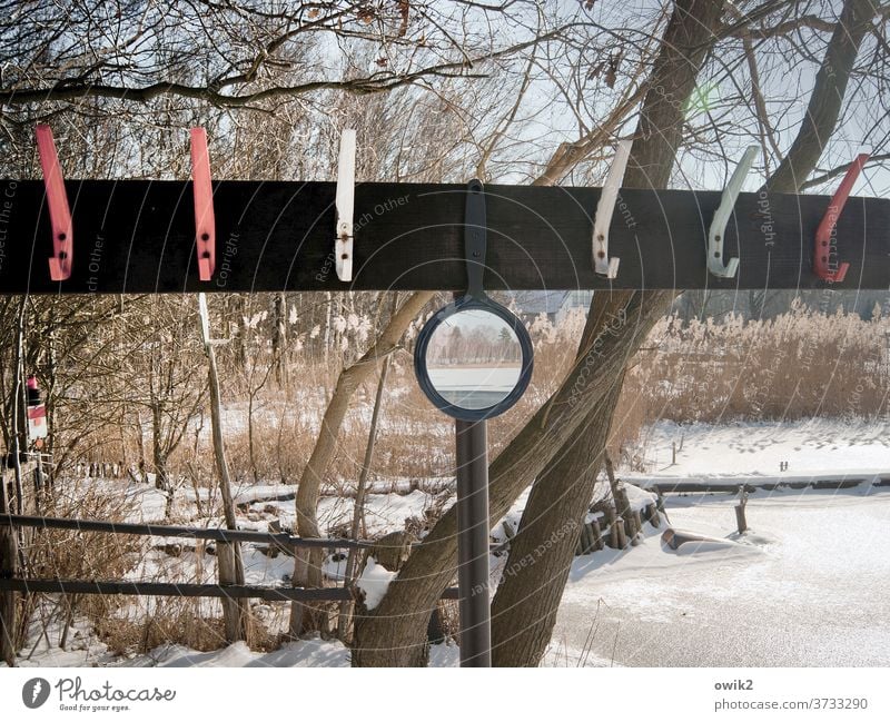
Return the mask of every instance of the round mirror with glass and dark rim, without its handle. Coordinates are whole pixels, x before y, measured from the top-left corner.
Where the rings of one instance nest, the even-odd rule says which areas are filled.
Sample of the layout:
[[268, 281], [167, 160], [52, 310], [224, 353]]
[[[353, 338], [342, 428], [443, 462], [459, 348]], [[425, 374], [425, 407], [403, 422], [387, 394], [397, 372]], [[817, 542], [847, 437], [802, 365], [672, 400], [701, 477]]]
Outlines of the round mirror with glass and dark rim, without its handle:
[[522, 322], [491, 299], [463, 297], [424, 326], [415, 349], [421, 388], [464, 421], [504, 413], [532, 376], [532, 344]]

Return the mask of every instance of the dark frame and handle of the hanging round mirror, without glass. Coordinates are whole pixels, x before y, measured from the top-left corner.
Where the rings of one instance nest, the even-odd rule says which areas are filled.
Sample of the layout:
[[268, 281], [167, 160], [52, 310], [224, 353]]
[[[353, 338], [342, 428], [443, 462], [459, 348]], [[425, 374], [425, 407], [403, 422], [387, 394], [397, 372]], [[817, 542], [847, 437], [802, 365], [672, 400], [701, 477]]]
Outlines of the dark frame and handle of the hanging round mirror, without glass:
[[[471, 180], [467, 185], [466, 200], [466, 266], [467, 290], [464, 296], [439, 308], [429, 320], [424, 324], [414, 346], [414, 375], [421, 390], [441, 412], [464, 422], [478, 422], [494, 416], [500, 416], [511, 408], [525, 393], [528, 382], [532, 380], [534, 368], [534, 348], [532, 338], [525, 326], [514, 313], [495, 300], [488, 298], [482, 287], [482, 276], [485, 270], [485, 195], [482, 182]], [[429, 378], [426, 367], [426, 349], [436, 329], [452, 316], [466, 310], [484, 310], [501, 318], [513, 330], [522, 349], [522, 366], [516, 385], [504, 398], [485, 408], [464, 408], [455, 406], [439, 394]]]

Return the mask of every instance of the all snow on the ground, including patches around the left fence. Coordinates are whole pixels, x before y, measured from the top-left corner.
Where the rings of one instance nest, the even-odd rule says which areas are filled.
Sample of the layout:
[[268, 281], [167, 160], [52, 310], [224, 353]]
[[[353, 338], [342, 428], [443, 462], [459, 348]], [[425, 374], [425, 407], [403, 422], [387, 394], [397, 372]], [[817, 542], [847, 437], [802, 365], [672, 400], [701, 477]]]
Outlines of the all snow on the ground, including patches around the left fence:
[[[672, 444], [682, 448], [672, 464]], [[669, 494], [665, 506], [678, 530], [710, 541], [672, 551], [662, 530], [646, 525], [645, 540], [626, 551], [606, 548], [575, 557], [545, 665], [701, 665], [808, 666], [890, 664], [890, 487], [878, 486], [890, 474], [890, 424], [812, 421], [789, 424], [738, 424], [712, 427], [653, 427], [645, 447], [645, 473], [623, 473], [627, 481], [698, 478], [741, 479], [866, 478], [854, 488], [760, 489], [748, 503], [750, 531], [735, 534], [733, 494]], [[788, 472], [779, 468], [788, 462]], [[873, 482], [873, 484], [872, 484]], [[600, 485], [604, 491], [605, 485]], [[244, 526], [263, 528], [265, 516], [287, 525], [293, 501], [274, 501], [287, 487], [245, 487]], [[647, 492], [630, 487], [635, 506]], [[162, 516], [162, 497], [154, 489], [131, 488], [135, 515]], [[376, 494], [368, 500], [368, 531], [399, 528], [409, 517], [453, 500], [415, 489]], [[506, 516], [515, 528], [527, 495]], [[326, 497], [319, 516], [326, 527], [352, 517], [353, 500]], [[501, 524], [493, 537], [504, 540]], [[493, 574], [505, 557], [493, 557]], [[134, 578], [200, 568], [194, 551], [169, 557], [154, 551]], [[290, 560], [269, 558], [248, 550], [248, 582], [276, 584], [290, 572]], [[329, 576], [337, 564], [326, 565]], [[493, 578], [494, 581], [494, 578]], [[58, 639], [50, 630], [46, 639]], [[32, 665], [235, 665], [345, 666], [348, 650], [338, 642], [308, 640], [270, 653], [233, 645], [195, 652], [166, 645], [149, 654], [108, 654], [91, 631], [76, 625], [67, 651], [36, 635]], [[454, 644], [436, 645], [431, 663], [457, 663]]]

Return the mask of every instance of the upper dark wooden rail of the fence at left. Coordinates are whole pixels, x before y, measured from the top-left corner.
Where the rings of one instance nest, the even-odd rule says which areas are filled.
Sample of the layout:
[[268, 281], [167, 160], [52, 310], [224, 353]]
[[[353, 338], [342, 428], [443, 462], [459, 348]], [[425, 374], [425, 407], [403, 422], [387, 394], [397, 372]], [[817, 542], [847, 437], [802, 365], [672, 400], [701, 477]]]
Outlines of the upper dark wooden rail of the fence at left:
[[374, 542], [365, 540], [303, 538], [290, 534], [269, 534], [249, 530], [205, 528], [200, 526], [165, 526], [159, 524], [125, 524], [96, 520], [57, 518], [52, 516], [24, 516], [0, 514], [0, 526], [33, 526], [38, 528], [62, 528], [78, 532], [109, 532], [113, 534], [137, 534], [140, 536], [174, 536], [202, 538], [217, 542], [254, 542], [276, 544], [283, 547], [315, 548], [370, 548]]

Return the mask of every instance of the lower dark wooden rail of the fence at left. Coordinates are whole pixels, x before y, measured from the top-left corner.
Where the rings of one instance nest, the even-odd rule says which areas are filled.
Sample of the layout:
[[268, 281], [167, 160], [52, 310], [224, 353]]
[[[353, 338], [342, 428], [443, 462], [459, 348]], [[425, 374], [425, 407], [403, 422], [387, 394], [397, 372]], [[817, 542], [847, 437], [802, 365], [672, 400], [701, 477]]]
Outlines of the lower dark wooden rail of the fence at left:
[[[327, 589], [241, 586], [231, 584], [170, 584], [168, 582], [85, 582], [80, 580], [0, 578], [0, 590], [47, 594], [135, 594], [138, 596], [187, 596], [260, 599], [269, 602], [343, 602], [353, 599], [342, 586]], [[444, 600], [456, 600], [457, 590], [448, 587]]]

